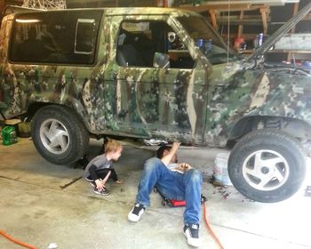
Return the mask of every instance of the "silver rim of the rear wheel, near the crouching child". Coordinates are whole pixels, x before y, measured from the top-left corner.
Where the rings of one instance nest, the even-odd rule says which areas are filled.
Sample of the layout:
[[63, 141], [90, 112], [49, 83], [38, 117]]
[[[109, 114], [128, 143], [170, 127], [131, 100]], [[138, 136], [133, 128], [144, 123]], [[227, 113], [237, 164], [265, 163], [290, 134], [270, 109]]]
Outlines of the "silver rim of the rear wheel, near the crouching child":
[[69, 146], [69, 133], [65, 125], [59, 120], [50, 118], [40, 127], [40, 140], [44, 148], [53, 154], [64, 153]]

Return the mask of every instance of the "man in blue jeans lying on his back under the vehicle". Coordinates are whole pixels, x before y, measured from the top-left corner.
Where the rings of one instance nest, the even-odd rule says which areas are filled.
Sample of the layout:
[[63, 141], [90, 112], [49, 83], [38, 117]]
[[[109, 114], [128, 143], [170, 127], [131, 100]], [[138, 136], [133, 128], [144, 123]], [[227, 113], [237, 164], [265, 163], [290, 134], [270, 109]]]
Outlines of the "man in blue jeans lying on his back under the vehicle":
[[[184, 235], [187, 244], [199, 246], [199, 223], [202, 189], [202, 173], [186, 163], [177, 165], [176, 152], [179, 142], [172, 147], [160, 148], [157, 157], [148, 159], [141, 175], [136, 204], [128, 213], [128, 220], [140, 221], [141, 215], [150, 205], [150, 193], [156, 187], [168, 199], [186, 200], [184, 213]], [[171, 171], [171, 169], [177, 171]]]

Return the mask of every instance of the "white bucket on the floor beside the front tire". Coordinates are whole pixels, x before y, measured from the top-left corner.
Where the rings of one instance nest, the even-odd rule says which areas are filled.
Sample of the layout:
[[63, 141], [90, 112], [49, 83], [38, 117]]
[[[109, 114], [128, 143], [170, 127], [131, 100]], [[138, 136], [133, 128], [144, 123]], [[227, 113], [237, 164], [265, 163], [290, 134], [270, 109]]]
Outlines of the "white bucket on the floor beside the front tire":
[[215, 181], [221, 185], [232, 185], [229, 175], [227, 173], [227, 160], [230, 153], [218, 153], [214, 160], [214, 177]]

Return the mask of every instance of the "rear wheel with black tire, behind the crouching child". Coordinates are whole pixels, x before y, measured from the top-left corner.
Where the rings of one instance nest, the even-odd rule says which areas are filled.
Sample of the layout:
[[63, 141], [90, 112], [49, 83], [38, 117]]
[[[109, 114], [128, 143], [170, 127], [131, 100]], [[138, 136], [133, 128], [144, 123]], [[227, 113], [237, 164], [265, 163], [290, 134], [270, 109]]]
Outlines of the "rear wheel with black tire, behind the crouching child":
[[31, 123], [37, 151], [55, 165], [68, 165], [83, 157], [89, 133], [74, 110], [57, 105], [40, 108]]

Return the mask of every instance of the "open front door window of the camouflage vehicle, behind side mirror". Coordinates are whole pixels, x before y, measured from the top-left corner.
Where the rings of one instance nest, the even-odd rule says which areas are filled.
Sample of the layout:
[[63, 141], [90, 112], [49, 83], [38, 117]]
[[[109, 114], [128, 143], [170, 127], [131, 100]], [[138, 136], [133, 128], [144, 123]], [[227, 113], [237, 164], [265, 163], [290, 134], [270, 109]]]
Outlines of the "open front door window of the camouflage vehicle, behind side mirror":
[[193, 68], [187, 47], [164, 21], [121, 23], [116, 62], [121, 67], [153, 68], [156, 54], [168, 55], [166, 68]]

